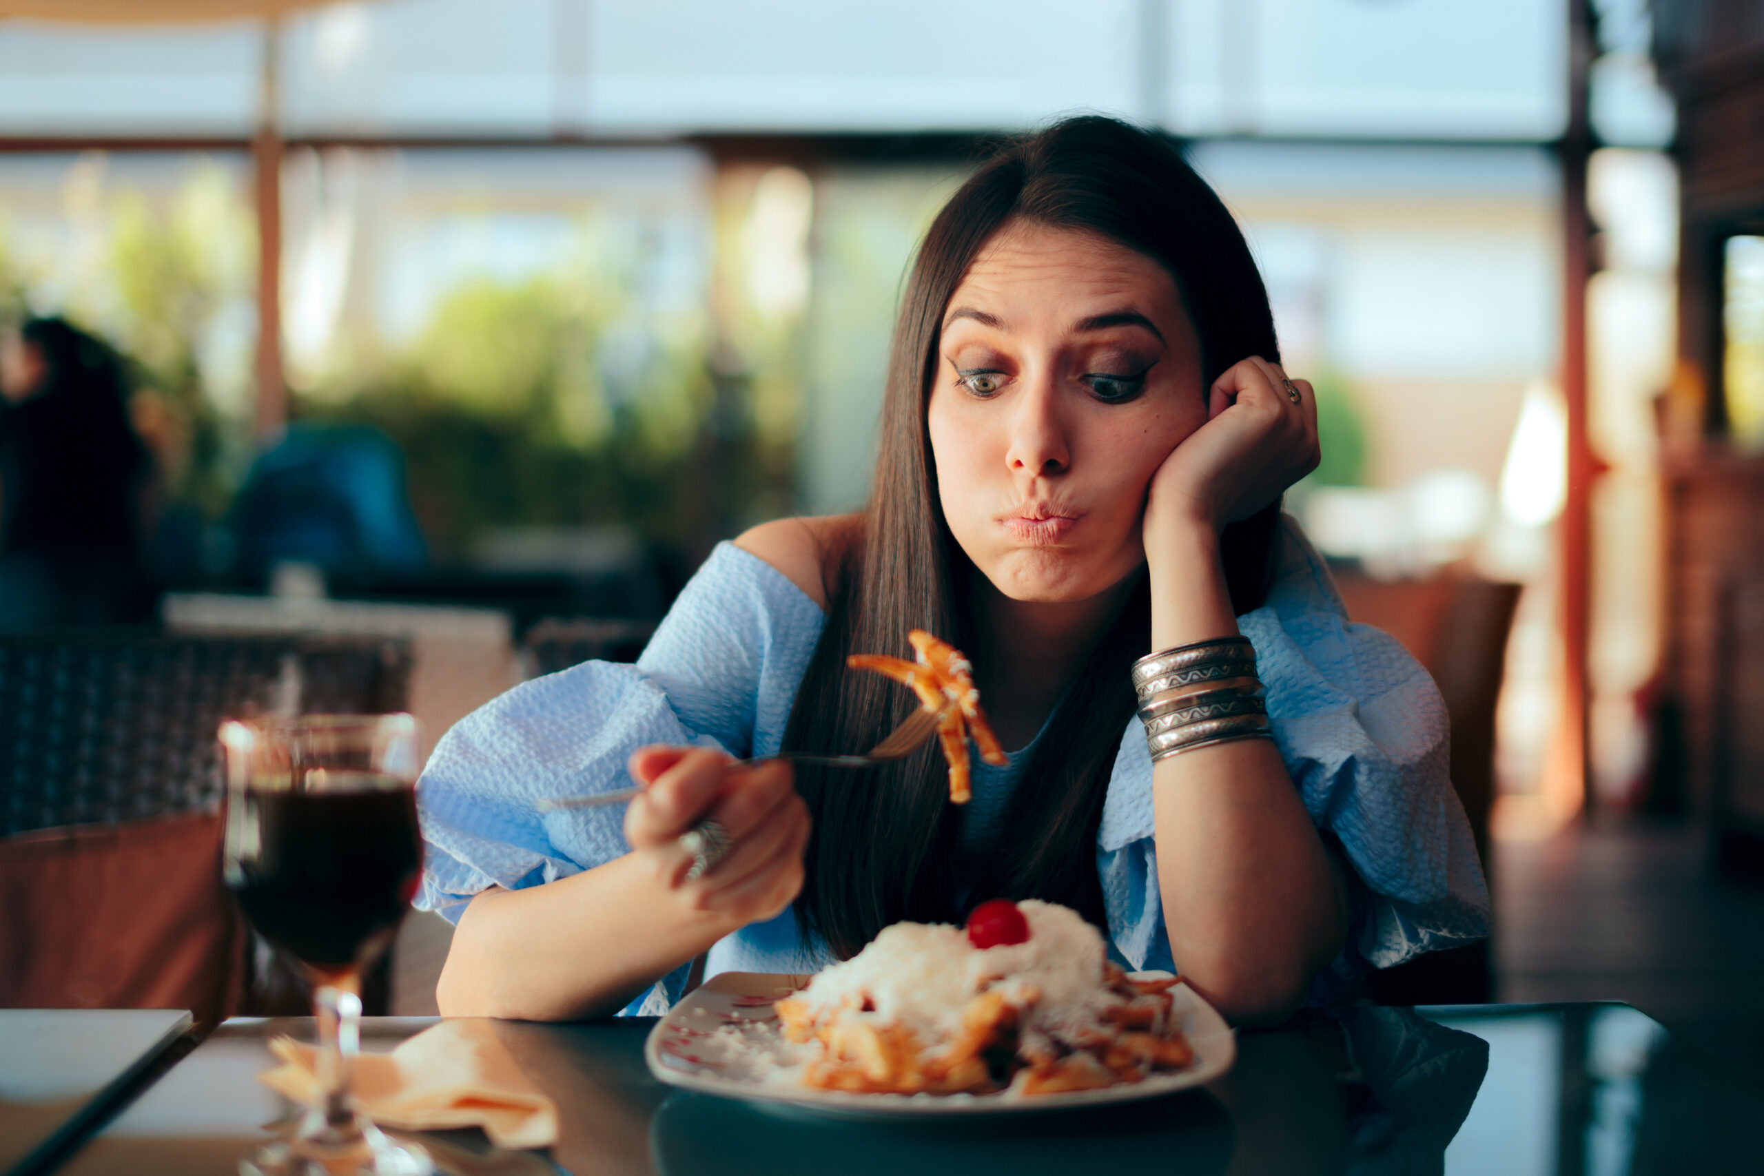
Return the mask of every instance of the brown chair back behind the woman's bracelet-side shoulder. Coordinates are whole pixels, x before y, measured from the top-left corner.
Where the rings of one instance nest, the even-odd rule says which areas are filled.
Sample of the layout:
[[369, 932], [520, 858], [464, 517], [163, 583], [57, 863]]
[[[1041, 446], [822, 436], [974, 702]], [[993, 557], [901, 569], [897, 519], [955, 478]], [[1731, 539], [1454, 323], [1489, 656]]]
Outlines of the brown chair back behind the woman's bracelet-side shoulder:
[[[1402, 642], [1439, 686], [1452, 719], [1452, 786], [1464, 804], [1487, 875], [1494, 709], [1521, 585], [1455, 575], [1379, 582], [1351, 569], [1337, 569], [1335, 585], [1351, 619]], [[1484, 1003], [1492, 991], [1487, 940], [1387, 968], [1371, 982], [1372, 996], [1385, 1005]]]

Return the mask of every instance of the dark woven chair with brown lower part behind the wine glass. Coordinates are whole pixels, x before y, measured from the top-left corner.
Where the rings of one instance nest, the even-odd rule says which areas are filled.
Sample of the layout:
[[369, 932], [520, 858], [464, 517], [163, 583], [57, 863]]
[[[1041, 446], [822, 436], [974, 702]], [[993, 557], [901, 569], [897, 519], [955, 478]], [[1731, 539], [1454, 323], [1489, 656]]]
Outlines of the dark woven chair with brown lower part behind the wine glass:
[[215, 730], [402, 709], [407, 677], [397, 638], [0, 636], [0, 1007], [298, 1012], [220, 885]]

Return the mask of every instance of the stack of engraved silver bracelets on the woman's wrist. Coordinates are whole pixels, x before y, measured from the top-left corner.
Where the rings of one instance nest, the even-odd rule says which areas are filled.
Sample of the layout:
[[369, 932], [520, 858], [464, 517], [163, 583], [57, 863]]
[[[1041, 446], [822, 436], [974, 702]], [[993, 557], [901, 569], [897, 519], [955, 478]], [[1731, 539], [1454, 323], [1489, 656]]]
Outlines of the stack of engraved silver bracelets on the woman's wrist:
[[1245, 636], [1178, 645], [1132, 665], [1152, 760], [1231, 739], [1270, 739], [1268, 707]]

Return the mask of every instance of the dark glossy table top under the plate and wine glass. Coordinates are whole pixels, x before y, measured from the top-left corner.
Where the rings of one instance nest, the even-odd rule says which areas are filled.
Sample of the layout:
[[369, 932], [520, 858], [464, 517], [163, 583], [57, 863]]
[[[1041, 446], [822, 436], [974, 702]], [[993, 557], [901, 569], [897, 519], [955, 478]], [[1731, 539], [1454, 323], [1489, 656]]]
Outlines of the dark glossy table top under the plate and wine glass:
[[[429, 1019], [370, 1019], [390, 1049]], [[1759, 1171], [1764, 1090], [1626, 1005], [1346, 1009], [1238, 1035], [1217, 1083], [1106, 1111], [854, 1123], [674, 1091], [644, 1019], [494, 1023], [559, 1107], [549, 1151], [425, 1135], [466, 1174], [1727, 1172]], [[286, 1114], [254, 1076], [305, 1021], [229, 1021], [56, 1169], [233, 1176]]]

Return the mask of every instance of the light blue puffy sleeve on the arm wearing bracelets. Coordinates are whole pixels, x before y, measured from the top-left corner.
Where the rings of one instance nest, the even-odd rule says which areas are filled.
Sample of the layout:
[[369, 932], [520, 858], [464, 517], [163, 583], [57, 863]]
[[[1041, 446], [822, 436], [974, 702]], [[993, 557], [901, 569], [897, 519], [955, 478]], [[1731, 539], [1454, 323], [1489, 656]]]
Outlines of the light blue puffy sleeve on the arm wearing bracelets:
[[[1367, 966], [1484, 938], [1489, 892], [1446, 776], [1446, 712], [1427, 672], [1395, 638], [1348, 621], [1291, 518], [1268, 601], [1238, 626], [1256, 645], [1275, 746], [1353, 873], [1349, 942], [1312, 998]], [[1097, 869], [1122, 957], [1173, 968], [1152, 832], [1152, 760], [1134, 721], [1102, 806]]]

